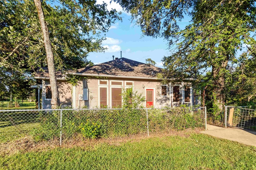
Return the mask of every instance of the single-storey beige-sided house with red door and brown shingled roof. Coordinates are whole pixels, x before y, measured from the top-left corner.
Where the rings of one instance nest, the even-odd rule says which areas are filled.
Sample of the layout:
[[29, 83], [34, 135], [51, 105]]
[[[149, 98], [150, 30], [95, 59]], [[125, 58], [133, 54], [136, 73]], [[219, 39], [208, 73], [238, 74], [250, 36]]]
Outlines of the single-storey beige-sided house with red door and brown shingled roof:
[[[48, 69], [42, 69], [44, 71], [36, 72], [35, 78], [42, 80], [42, 107], [45, 109], [51, 108], [51, 86]], [[186, 80], [175, 86], [161, 84], [161, 80], [157, 79], [161, 71], [162, 68], [127, 58], [116, 58], [66, 74], [56, 71], [61, 107], [93, 108], [104, 105], [114, 108], [122, 104], [121, 89], [130, 87], [146, 97], [145, 107], [200, 104], [199, 97], [194, 96], [193, 87], [186, 86]], [[72, 86], [65, 79], [68, 74], [83, 78]]]

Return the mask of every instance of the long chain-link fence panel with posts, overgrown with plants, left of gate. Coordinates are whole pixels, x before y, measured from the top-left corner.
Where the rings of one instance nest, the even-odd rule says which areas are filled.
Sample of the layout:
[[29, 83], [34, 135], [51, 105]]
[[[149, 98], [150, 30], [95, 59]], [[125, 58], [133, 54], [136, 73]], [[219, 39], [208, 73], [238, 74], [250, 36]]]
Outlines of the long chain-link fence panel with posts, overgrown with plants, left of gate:
[[0, 142], [31, 136], [60, 143], [73, 138], [149, 136], [205, 128], [205, 107], [144, 109], [1, 110]]

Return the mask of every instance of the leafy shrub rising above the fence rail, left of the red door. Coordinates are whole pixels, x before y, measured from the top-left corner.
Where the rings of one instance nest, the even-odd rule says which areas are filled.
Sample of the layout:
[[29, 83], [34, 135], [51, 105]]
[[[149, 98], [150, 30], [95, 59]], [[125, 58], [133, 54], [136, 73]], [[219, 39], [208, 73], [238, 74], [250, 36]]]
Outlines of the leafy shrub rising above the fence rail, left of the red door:
[[122, 107], [123, 108], [143, 108], [145, 104], [145, 96], [133, 91], [133, 87], [122, 88]]

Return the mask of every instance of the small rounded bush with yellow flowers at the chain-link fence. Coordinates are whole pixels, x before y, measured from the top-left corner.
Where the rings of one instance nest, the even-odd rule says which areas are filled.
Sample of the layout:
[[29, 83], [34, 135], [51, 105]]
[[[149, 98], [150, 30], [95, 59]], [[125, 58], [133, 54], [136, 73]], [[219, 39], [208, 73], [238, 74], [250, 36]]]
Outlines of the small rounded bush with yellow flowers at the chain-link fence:
[[81, 123], [78, 128], [83, 137], [86, 138], [95, 139], [101, 135], [100, 125], [98, 123], [90, 122], [90, 120], [87, 120], [86, 123]]

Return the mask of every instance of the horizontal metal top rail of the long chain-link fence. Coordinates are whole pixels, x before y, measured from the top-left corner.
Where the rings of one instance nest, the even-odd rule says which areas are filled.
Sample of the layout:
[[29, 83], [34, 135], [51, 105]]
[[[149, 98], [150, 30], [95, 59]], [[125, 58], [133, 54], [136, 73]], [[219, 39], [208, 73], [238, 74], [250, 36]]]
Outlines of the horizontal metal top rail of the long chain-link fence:
[[[175, 107], [163, 107], [163, 108], [130, 108], [135, 110], [152, 110], [152, 109], [174, 109]], [[186, 108], [186, 107], [179, 107]], [[188, 107], [189, 108], [189, 107]], [[205, 107], [193, 107], [192, 109], [201, 109]], [[73, 109], [9, 109], [9, 110], [0, 110], [0, 112], [24, 112], [24, 111], [82, 111], [82, 110], [123, 110], [123, 108], [92, 108], [92, 109], [82, 109], [82, 108], [73, 108]]]

